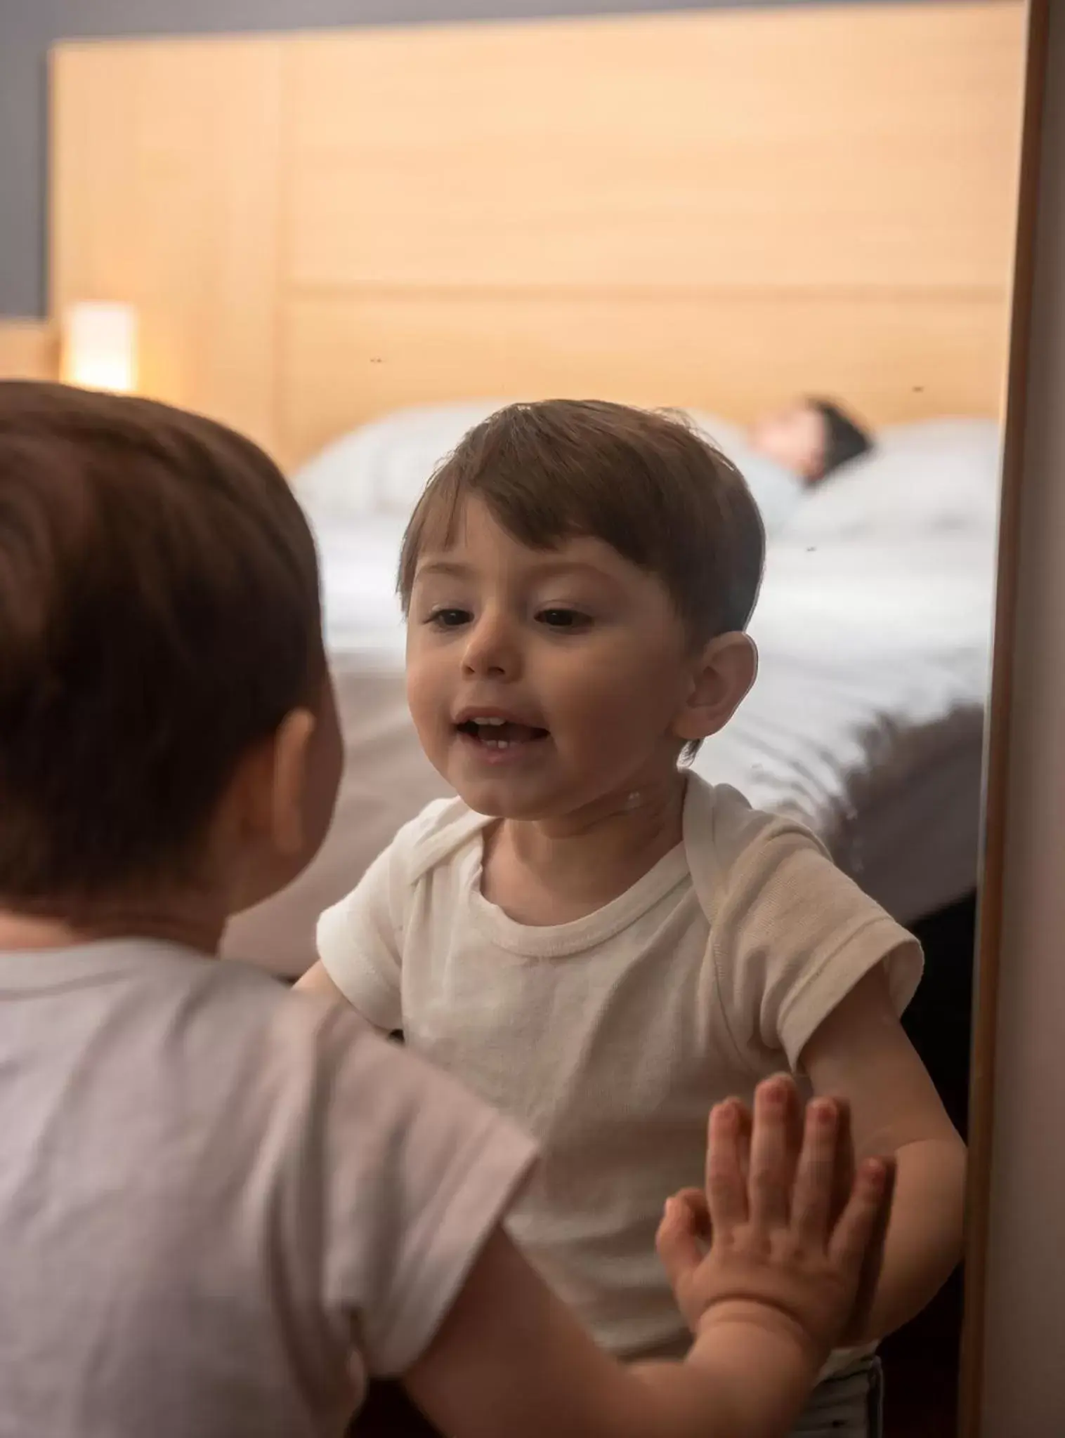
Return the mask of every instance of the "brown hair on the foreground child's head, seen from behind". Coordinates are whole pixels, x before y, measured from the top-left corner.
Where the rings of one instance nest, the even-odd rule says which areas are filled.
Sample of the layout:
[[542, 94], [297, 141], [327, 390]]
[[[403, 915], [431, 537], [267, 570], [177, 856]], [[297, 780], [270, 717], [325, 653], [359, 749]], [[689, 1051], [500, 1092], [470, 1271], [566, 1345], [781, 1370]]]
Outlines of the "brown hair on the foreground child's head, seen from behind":
[[176, 877], [321, 673], [314, 541], [249, 440], [0, 383], [0, 896]]

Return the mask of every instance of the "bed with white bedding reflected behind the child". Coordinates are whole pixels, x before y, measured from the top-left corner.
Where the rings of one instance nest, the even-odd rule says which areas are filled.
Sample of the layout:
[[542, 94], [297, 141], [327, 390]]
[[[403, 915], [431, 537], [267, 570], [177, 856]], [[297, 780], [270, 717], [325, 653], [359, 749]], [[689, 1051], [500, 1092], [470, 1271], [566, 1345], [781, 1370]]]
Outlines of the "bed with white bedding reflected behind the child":
[[[294, 483], [322, 559], [345, 774], [317, 863], [237, 919], [226, 952], [276, 972], [312, 959], [317, 915], [449, 789], [403, 687], [396, 558], [410, 503], [492, 403], [423, 407], [345, 437]], [[738, 431], [694, 417], [743, 464]], [[809, 824], [904, 923], [977, 876], [999, 434], [954, 420], [885, 430], [872, 456], [781, 512], [756, 610], [758, 682], [697, 772]], [[753, 476], [766, 495], [776, 476]]]

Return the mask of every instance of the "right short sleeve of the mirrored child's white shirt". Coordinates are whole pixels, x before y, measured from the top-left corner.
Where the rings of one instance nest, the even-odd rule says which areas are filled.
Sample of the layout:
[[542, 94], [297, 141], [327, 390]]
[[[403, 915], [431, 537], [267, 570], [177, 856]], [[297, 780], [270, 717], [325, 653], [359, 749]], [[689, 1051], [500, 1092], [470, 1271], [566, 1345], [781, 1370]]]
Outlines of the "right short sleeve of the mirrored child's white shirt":
[[751, 818], [764, 823], [722, 874], [711, 923], [715, 985], [740, 1057], [783, 1051], [797, 1070], [815, 1031], [878, 963], [901, 1014], [921, 948], [802, 825]]

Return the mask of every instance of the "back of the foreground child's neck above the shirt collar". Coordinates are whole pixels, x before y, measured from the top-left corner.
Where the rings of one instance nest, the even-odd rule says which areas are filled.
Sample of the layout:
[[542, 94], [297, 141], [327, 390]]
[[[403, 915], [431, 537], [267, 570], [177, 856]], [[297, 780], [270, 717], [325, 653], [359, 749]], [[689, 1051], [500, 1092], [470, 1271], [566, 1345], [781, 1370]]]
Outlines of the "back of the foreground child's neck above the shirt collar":
[[26, 913], [0, 906], [0, 953], [71, 949], [115, 939], [157, 939], [201, 953], [217, 953], [225, 917], [210, 903], [186, 896], [181, 905], [98, 902], [68, 912]]

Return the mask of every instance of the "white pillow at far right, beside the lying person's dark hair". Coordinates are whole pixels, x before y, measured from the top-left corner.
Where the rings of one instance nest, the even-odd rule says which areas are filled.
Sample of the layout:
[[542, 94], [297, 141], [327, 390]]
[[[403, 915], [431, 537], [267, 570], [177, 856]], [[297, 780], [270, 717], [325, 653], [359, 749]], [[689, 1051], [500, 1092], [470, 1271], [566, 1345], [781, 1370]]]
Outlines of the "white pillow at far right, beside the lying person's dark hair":
[[984, 420], [898, 426], [793, 510], [787, 538], [915, 538], [994, 532], [999, 427]]

